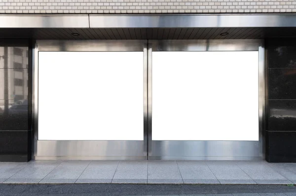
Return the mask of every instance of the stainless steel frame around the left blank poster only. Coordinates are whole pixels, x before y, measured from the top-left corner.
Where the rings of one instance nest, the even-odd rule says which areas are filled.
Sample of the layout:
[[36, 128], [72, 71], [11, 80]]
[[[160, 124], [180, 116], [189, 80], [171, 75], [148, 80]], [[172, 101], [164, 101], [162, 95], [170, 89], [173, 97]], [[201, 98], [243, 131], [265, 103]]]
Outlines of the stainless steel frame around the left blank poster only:
[[[144, 140], [38, 140], [39, 51], [143, 51]], [[37, 41], [33, 59], [33, 159], [147, 160], [147, 41]]]

